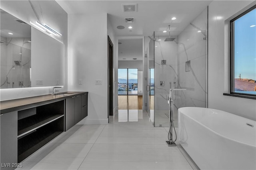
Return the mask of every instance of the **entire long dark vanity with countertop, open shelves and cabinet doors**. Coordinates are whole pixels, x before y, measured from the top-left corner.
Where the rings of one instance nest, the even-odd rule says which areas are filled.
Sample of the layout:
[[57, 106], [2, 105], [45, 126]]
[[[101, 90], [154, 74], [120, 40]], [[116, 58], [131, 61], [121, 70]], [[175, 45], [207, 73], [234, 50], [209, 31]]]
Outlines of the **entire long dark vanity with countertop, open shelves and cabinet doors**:
[[87, 94], [1, 101], [0, 169], [18, 168], [20, 162], [86, 117]]

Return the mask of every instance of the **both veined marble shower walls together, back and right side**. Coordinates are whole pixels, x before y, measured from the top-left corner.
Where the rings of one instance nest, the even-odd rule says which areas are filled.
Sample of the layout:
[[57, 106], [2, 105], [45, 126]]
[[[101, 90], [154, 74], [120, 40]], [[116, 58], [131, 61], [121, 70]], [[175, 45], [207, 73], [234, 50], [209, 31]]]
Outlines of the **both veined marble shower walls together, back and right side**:
[[207, 23], [208, 8], [182, 31], [172, 30], [170, 24], [170, 33], [154, 32], [155, 127], [169, 127], [170, 83], [172, 88], [186, 89], [172, 92], [175, 127], [178, 108], [207, 107]]

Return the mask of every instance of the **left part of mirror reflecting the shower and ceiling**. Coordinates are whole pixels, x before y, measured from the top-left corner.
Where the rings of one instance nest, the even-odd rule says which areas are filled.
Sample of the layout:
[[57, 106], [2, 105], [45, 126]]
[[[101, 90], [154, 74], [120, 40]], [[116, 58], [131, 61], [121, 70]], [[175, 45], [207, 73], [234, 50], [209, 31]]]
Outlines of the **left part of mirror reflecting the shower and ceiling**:
[[1, 9], [1, 89], [31, 87], [31, 26]]

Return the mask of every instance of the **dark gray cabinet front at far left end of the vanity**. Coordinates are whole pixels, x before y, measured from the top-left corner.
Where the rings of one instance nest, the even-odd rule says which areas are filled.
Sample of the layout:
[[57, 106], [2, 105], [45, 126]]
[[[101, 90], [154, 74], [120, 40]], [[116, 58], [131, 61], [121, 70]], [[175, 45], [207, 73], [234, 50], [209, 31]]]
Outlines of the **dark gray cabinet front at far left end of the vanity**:
[[[18, 162], [18, 111], [1, 115], [1, 170], [15, 169]], [[9, 164], [8, 164], [9, 163]]]

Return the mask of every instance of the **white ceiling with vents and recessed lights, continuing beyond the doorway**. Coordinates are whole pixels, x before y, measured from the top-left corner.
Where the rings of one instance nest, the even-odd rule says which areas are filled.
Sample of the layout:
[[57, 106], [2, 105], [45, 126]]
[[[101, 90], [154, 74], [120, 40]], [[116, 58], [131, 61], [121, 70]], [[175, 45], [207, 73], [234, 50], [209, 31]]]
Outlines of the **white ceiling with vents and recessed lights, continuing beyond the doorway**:
[[[56, 0], [68, 14], [107, 13], [118, 37], [152, 36], [154, 31], [168, 30], [177, 36], [198, 16], [212, 0]], [[137, 12], [123, 12], [123, 4], [136, 4]], [[176, 17], [176, 20], [171, 20]], [[126, 23], [124, 18], [134, 18]], [[122, 25], [124, 29], [116, 27]], [[132, 29], [128, 29], [132, 26]], [[130, 31], [131, 30], [131, 31]], [[168, 35], [167, 35], [168, 36]], [[142, 41], [120, 39], [118, 60], [142, 60]], [[122, 53], [121, 53], [122, 52]], [[136, 57], [136, 56], [141, 57]]]

